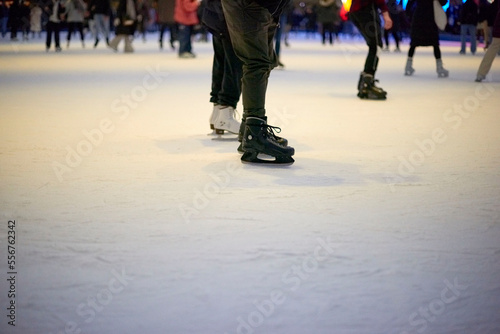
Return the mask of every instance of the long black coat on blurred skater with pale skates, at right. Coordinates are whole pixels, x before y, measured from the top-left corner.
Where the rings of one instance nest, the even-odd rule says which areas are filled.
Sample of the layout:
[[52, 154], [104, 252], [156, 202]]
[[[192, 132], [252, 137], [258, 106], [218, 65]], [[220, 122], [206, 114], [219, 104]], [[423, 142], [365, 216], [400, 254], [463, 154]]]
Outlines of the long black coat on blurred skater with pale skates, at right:
[[[444, 6], [448, 1], [439, 0]], [[439, 45], [439, 28], [434, 21], [433, 0], [415, 0], [415, 10], [411, 22], [411, 46]], [[408, 3], [410, 6], [410, 3]]]

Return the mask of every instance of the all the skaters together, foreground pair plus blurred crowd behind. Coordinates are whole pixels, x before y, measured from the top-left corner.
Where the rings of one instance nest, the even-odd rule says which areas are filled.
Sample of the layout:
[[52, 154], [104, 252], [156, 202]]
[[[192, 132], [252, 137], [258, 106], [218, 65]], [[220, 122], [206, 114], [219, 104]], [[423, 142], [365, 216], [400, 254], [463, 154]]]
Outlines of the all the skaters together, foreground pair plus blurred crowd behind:
[[[314, 0], [296, 4], [292, 0], [0, 0], [2, 37], [10, 28], [10, 39], [19, 40], [40, 36], [46, 30], [46, 49], [60, 52], [60, 31], [67, 30], [67, 47], [73, 33], [78, 32], [85, 47], [84, 29], [92, 32], [94, 48], [102, 39], [118, 51], [124, 41], [124, 52], [134, 52], [132, 41], [145, 39], [148, 30], [158, 31], [159, 47], [163, 36], [170, 33], [170, 47], [177, 49], [179, 58], [195, 58], [191, 41], [201, 34], [205, 40], [212, 33], [214, 58], [210, 102], [213, 110], [210, 127], [214, 134], [236, 134], [241, 160], [247, 163], [281, 164], [294, 162], [293, 147], [285, 138], [276, 135], [279, 128], [267, 124], [265, 95], [270, 72], [283, 67], [279, 50], [284, 36], [304, 30], [306, 36], [321, 35], [321, 43], [333, 45], [339, 34], [357, 31], [368, 47], [364, 68], [358, 81], [361, 99], [385, 100], [387, 92], [378, 87], [375, 79], [379, 50], [389, 51], [389, 36], [401, 52], [403, 37], [410, 40], [404, 74], [415, 72], [413, 57], [417, 47], [432, 47], [439, 78], [446, 78], [439, 47], [440, 33], [460, 34], [460, 54], [477, 51], [482, 38], [487, 50], [479, 66], [476, 81], [486, 78], [493, 59], [500, 53], [500, 0], [451, 0], [447, 13], [442, 6], [448, 0], [409, 0], [403, 8], [398, 0], [352, 0], [349, 8], [341, 0]], [[438, 5], [436, 6], [435, 3]], [[442, 14], [441, 18], [438, 14]], [[457, 29], [459, 26], [459, 29]], [[110, 39], [111, 30], [114, 38]], [[480, 33], [479, 33], [480, 32]], [[178, 48], [174, 45], [178, 42]], [[235, 109], [242, 97], [243, 115], [236, 119]], [[274, 159], [261, 159], [259, 154]]]

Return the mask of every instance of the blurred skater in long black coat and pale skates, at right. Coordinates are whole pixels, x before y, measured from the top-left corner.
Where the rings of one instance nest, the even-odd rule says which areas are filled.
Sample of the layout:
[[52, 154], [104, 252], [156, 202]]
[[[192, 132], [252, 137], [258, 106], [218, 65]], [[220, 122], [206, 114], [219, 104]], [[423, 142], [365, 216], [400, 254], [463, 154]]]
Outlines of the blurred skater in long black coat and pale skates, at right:
[[[447, 0], [438, 0], [444, 6]], [[439, 28], [434, 21], [433, 0], [413, 0], [415, 11], [411, 20], [410, 49], [406, 60], [405, 75], [413, 75], [413, 56], [417, 46], [432, 46], [434, 48], [434, 58], [436, 58], [436, 72], [439, 78], [446, 78], [449, 75], [447, 69], [443, 67], [441, 59], [441, 49], [439, 48]], [[413, 6], [408, 3], [407, 6]]]

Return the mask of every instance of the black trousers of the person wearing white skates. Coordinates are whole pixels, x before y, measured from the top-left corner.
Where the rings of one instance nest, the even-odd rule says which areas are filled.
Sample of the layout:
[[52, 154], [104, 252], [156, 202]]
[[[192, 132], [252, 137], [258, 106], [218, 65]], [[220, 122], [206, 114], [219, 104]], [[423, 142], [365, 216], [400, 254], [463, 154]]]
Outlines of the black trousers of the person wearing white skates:
[[236, 109], [241, 95], [242, 64], [226, 36], [213, 35], [214, 60], [210, 102]]

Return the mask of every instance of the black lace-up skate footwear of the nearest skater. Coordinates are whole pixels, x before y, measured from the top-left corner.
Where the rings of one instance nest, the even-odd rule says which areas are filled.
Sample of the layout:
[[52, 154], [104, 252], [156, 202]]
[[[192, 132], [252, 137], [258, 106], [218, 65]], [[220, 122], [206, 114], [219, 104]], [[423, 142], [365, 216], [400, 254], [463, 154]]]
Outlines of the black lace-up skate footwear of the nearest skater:
[[293, 164], [294, 148], [280, 145], [275, 139], [273, 129], [279, 128], [267, 125], [264, 119], [246, 119], [242, 143], [245, 153], [241, 156], [241, 162], [280, 166]]

